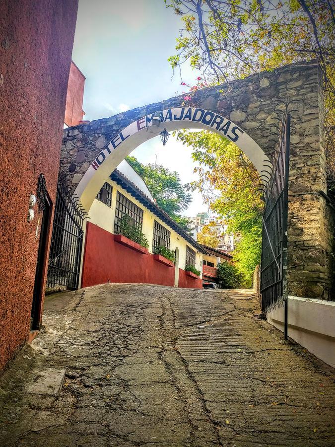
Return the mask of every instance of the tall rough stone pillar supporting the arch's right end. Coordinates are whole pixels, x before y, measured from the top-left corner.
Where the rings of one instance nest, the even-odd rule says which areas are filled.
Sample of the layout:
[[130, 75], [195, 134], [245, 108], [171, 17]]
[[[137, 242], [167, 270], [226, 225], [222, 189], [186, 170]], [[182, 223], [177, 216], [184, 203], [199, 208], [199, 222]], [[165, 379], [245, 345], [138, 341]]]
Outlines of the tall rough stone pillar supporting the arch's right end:
[[[280, 81], [280, 77], [278, 79]], [[288, 213], [290, 295], [328, 298], [332, 235], [327, 222], [322, 77], [318, 67], [286, 73], [285, 90], [297, 100], [291, 113]]]

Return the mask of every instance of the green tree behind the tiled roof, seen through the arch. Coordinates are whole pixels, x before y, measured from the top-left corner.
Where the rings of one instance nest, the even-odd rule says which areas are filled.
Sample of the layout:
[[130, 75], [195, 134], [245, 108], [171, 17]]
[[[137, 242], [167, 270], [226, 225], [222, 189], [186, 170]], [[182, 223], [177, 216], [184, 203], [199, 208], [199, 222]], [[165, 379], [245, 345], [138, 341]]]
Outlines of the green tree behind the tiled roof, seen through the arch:
[[180, 213], [187, 210], [192, 202], [192, 195], [182, 184], [177, 171], [170, 171], [162, 165], [142, 164], [133, 156], [128, 156], [128, 163], [145, 181], [157, 205], [174, 221], [188, 230], [188, 218]]

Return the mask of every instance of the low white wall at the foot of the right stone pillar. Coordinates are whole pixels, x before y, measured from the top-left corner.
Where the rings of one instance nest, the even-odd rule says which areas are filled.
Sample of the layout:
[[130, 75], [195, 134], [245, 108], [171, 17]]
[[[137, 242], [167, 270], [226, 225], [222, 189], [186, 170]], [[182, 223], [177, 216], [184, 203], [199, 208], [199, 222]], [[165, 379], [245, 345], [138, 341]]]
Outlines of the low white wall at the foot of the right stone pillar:
[[[267, 313], [270, 324], [284, 330], [284, 308]], [[288, 297], [288, 336], [335, 367], [335, 302]]]

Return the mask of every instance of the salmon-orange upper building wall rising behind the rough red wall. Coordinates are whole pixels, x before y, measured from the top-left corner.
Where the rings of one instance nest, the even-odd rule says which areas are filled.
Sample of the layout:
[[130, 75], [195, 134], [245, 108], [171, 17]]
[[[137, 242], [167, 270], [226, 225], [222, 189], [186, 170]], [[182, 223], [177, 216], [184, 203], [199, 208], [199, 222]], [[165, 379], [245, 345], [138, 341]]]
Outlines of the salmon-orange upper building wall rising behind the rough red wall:
[[82, 101], [84, 98], [85, 76], [78, 67], [71, 62], [67, 84], [67, 103], [64, 122], [67, 126], [77, 126], [82, 121], [84, 112]]

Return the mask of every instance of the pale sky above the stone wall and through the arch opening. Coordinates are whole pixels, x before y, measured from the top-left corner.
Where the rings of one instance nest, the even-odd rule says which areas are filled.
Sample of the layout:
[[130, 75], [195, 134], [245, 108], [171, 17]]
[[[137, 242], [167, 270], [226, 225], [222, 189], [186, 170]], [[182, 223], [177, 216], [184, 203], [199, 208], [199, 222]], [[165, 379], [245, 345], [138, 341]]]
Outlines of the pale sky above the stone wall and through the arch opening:
[[[167, 59], [175, 54], [180, 17], [163, 0], [79, 0], [72, 60], [85, 75], [83, 109], [96, 120], [181, 94], [179, 73]], [[185, 66], [183, 81], [194, 85], [199, 73]], [[191, 149], [172, 135], [165, 147], [158, 137], [136, 148], [142, 163], [176, 170], [182, 183], [197, 179]], [[200, 193], [183, 212], [207, 211]]]

